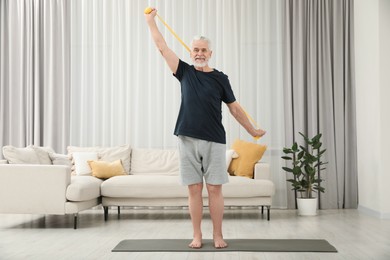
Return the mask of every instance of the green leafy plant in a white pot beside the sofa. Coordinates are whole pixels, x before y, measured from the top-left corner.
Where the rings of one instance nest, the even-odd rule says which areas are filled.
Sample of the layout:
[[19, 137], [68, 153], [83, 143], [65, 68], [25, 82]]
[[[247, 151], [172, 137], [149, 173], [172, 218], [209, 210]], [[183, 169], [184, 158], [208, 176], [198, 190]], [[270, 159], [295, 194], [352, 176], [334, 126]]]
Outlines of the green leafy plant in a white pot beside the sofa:
[[294, 177], [287, 181], [296, 192], [298, 214], [316, 215], [318, 200], [313, 197], [313, 193], [325, 192], [325, 188], [321, 186], [320, 171], [325, 169], [323, 165], [326, 163], [321, 161], [321, 157], [326, 149], [321, 150], [321, 133], [313, 138], [308, 138], [301, 132], [299, 134], [303, 137], [304, 144], [298, 145], [294, 142], [291, 147], [283, 148], [285, 156], [282, 156], [282, 159], [286, 160], [290, 167], [282, 168]]

